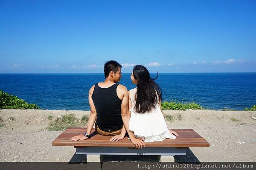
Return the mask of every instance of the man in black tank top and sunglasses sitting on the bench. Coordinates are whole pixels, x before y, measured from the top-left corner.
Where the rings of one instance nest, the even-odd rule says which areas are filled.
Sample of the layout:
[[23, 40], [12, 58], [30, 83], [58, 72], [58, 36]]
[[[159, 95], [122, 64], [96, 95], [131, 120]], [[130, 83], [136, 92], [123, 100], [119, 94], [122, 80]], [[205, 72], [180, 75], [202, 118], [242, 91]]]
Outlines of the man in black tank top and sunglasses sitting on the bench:
[[122, 66], [116, 61], [104, 65], [105, 81], [93, 85], [89, 91], [90, 116], [87, 132], [74, 136], [70, 140], [78, 141], [90, 138], [95, 123], [95, 130], [101, 135], [111, 135], [111, 141], [124, 138], [126, 130], [137, 148], [145, 147], [142, 140], [129, 131], [129, 96], [125, 86], [117, 84], [121, 77]]

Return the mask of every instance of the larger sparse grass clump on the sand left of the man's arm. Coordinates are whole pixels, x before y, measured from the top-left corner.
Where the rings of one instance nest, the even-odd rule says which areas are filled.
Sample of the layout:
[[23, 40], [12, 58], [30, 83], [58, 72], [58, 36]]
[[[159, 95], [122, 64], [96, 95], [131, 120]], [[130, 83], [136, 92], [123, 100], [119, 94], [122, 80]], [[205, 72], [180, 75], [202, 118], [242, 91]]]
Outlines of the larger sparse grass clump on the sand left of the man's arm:
[[49, 123], [48, 130], [49, 131], [58, 131], [65, 130], [69, 127], [78, 127], [79, 120], [75, 117], [74, 114], [66, 114], [61, 118], [56, 118], [55, 120], [51, 120]]

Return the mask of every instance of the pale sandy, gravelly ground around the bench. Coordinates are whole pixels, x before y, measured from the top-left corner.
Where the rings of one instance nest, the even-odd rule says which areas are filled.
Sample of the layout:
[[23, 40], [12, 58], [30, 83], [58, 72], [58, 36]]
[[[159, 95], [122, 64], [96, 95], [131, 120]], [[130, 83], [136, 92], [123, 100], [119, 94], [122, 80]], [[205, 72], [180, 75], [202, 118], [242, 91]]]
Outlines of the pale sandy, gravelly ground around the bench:
[[[0, 161], [84, 160], [74, 147], [53, 147], [52, 141], [63, 131], [47, 130], [49, 115], [70, 113], [77, 118], [89, 115], [88, 111], [0, 110], [4, 124], [0, 127]], [[169, 128], [193, 129], [210, 143], [210, 147], [191, 147], [186, 156], [175, 156], [176, 162], [256, 161], [256, 111], [175, 110], [165, 114], [174, 118], [168, 119]]]

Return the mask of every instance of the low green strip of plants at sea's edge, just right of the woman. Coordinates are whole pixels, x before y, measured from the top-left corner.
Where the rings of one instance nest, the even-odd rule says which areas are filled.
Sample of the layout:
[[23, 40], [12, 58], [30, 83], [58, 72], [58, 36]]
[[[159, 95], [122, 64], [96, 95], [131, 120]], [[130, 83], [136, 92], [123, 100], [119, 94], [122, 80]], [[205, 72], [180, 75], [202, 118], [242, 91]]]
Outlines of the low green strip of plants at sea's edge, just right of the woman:
[[164, 101], [161, 103], [163, 110], [186, 110], [186, 109], [204, 109], [196, 103], [175, 103]]

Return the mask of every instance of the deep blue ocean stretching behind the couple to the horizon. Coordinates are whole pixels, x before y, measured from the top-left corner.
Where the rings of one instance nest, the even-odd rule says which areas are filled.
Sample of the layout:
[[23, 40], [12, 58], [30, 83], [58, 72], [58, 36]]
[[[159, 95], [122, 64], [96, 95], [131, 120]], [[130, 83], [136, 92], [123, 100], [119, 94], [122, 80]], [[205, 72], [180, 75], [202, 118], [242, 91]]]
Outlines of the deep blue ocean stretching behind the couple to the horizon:
[[[128, 90], [136, 87], [130, 75], [119, 82]], [[0, 74], [0, 89], [40, 109], [90, 110], [88, 91], [104, 79], [103, 74]], [[237, 110], [256, 104], [256, 73], [160, 73], [156, 82], [163, 101]]]

